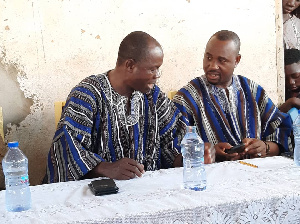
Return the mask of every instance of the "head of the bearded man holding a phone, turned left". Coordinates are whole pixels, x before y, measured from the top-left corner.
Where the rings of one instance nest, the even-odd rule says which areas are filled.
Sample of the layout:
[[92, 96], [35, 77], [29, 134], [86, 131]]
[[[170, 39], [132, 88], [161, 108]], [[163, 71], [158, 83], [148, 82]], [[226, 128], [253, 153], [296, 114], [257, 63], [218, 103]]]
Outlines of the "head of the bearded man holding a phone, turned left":
[[209, 83], [220, 88], [232, 82], [234, 68], [240, 62], [240, 39], [232, 31], [221, 30], [209, 39], [203, 58], [203, 70]]

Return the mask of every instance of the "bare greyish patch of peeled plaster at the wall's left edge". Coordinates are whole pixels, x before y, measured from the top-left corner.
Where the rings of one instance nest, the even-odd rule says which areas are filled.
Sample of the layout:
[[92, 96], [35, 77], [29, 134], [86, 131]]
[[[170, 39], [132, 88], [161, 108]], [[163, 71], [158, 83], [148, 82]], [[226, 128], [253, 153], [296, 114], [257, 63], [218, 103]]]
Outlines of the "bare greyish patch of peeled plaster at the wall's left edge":
[[[0, 62], [2, 61], [0, 58]], [[0, 63], [0, 106], [3, 110], [4, 133], [7, 132], [7, 124], [18, 126], [30, 113], [30, 107], [33, 105], [33, 100], [25, 98], [20, 89], [18, 74], [14, 65]]]

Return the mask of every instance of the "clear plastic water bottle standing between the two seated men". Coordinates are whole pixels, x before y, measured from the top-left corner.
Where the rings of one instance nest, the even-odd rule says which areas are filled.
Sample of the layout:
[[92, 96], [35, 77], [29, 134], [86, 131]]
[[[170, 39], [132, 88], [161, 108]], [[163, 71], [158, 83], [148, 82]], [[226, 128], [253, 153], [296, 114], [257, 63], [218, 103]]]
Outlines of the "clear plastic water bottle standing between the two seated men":
[[197, 134], [195, 126], [187, 127], [187, 132], [181, 141], [181, 152], [184, 188], [195, 191], [205, 190], [204, 142]]

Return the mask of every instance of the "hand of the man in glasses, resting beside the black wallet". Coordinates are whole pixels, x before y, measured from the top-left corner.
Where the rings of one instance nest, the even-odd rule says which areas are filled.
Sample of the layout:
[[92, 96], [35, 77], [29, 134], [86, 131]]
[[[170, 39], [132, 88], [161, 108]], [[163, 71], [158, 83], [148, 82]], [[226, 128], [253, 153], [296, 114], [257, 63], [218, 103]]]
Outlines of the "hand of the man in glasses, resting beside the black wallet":
[[141, 177], [144, 165], [130, 158], [122, 158], [116, 162], [101, 162], [91, 172], [95, 175], [117, 180], [129, 180], [136, 176]]

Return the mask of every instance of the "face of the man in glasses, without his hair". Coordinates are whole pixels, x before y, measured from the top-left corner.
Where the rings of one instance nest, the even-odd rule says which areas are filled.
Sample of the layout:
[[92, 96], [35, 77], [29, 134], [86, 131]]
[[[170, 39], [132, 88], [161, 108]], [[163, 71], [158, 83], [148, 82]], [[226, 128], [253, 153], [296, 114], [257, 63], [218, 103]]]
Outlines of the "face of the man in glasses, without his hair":
[[159, 67], [163, 63], [163, 51], [161, 47], [150, 44], [147, 59], [135, 62], [133, 73], [129, 80], [132, 89], [142, 93], [149, 92], [160, 77]]

